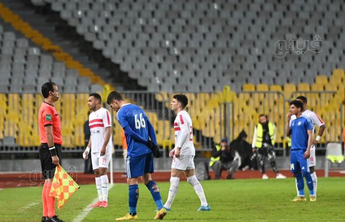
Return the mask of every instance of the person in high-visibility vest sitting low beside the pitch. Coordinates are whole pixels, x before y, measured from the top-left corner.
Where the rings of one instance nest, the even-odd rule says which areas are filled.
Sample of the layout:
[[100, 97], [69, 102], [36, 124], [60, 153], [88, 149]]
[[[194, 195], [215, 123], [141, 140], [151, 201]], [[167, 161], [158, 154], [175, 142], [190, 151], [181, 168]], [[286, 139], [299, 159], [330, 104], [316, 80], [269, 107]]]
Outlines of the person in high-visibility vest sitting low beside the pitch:
[[241, 156], [237, 151], [228, 147], [228, 140], [224, 138], [221, 140], [220, 145], [216, 145], [212, 149], [209, 166], [212, 168], [216, 180], [219, 180], [223, 170], [229, 170], [227, 179], [234, 179], [233, 175], [241, 165], [239, 161], [241, 162]]

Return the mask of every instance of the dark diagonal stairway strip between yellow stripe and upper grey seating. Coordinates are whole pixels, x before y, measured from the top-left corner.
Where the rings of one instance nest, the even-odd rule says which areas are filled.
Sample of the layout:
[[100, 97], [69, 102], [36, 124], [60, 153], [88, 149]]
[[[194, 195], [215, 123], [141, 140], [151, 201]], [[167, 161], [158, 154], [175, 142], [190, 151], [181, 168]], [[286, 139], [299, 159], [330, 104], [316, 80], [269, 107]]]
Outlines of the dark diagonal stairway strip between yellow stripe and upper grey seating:
[[[61, 47], [75, 62], [90, 70], [95, 76], [99, 76], [98, 81], [109, 83], [118, 90], [126, 88], [125, 86], [127, 86], [126, 89], [138, 89], [137, 84], [126, 78], [125, 73], [119, 69], [116, 70], [116, 67], [103, 68], [104, 64], [101, 63], [101, 60], [104, 60], [95, 55], [97, 52], [92, 49], [92, 45], [87, 45], [87, 42], [60, 18], [59, 13], [50, 10], [49, 5], [37, 7], [32, 5], [31, 1], [21, 0], [3, 0], [2, 3], [5, 7], [17, 13], [20, 18], [42, 36], [47, 37], [54, 45]], [[79, 64], [78, 66], [80, 66]], [[93, 78], [91, 77], [91, 79]]]

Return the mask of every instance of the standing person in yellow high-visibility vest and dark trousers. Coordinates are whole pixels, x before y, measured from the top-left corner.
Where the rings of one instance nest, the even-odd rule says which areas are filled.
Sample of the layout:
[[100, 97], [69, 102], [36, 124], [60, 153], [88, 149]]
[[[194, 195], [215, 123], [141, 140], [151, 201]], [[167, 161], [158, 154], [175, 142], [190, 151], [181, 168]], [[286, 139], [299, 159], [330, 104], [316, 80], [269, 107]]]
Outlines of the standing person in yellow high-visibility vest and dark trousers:
[[262, 174], [262, 179], [268, 179], [265, 172], [265, 157], [270, 161], [273, 171], [276, 173], [277, 179], [286, 178], [284, 175], [278, 172], [276, 168], [276, 153], [273, 150], [276, 138], [276, 126], [273, 122], [268, 121], [268, 117], [265, 114], [259, 116], [259, 123], [254, 128], [253, 143], [251, 147], [253, 148], [253, 153], [257, 154], [260, 163], [260, 172]]

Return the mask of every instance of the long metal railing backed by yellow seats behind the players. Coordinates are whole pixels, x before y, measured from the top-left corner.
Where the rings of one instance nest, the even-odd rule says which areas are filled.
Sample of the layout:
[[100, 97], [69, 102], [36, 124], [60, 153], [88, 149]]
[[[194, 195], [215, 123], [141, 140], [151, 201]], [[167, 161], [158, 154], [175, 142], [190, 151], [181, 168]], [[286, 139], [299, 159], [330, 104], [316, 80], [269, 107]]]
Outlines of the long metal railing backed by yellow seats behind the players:
[[[158, 144], [164, 153], [173, 148], [174, 115], [170, 111], [173, 93], [150, 93], [145, 91], [122, 92], [126, 101], [143, 108], [152, 122]], [[185, 93], [189, 99], [187, 111], [193, 121], [193, 139], [197, 151], [209, 151], [223, 137], [236, 139], [244, 129], [251, 143], [253, 129], [259, 114], [267, 114], [276, 124], [276, 148], [283, 150], [285, 116], [288, 102], [298, 95], [308, 98], [308, 109], [317, 112], [326, 123], [326, 131], [319, 147], [324, 149], [328, 141], [342, 142], [343, 105], [334, 91], [292, 92], [286, 98], [282, 91], [233, 91], [213, 93]], [[3, 102], [0, 111], [0, 152], [36, 152], [39, 146], [37, 113], [43, 98], [40, 94], [1, 94]], [[104, 96], [103, 96], [104, 97]], [[81, 152], [84, 149], [83, 124], [87, 120], [88, 94], [62, 94], [56, 109], [61, 113], [64, 149], [67, 152]], [[105, 98], [104, 98], [105, 99]], [[121, 152], [121, 126], [113, 118], [113, 144]], [[24, 123], [24, 124], [23, 124]]]

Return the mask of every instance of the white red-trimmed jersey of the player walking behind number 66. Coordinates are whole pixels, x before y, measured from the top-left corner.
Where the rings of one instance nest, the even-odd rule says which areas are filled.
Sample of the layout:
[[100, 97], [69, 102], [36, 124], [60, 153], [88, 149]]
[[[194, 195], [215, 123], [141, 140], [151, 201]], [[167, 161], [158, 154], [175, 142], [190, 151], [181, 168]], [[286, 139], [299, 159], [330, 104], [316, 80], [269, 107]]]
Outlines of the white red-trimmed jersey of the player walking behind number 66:
[[195, 156], [192, 119], [188, 112], [179, 111], [177, 113], [173, 128], [175, 131], [175, 148], [181, 148], [180, 155]]

